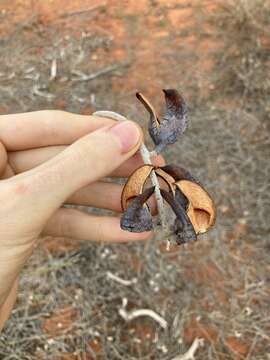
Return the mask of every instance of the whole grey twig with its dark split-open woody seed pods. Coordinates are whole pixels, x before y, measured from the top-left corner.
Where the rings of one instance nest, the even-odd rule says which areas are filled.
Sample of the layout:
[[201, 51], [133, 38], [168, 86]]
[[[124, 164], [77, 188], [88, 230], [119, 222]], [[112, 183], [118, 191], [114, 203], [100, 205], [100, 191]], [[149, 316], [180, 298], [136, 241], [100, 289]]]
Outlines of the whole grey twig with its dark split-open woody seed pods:
[[[177, 244], [197, 240], [199, 234], [207, 232], [215, 223], [216, 209], [213, 199], [201, 182], [188, 170], [176, 164], [155, 167], [151, 156], [160, 154], [168, 145], [174, 144], [185, 132], [188, 124], [187, 106], [182, 95], [175, 89], [163, 90], [166, 102], [164, 115], [159, 118], [148, 99], [137, 93], [137, 99], [149, 113], [148, 132], [155, 145], [149, 152], [142, 144], [140, 152], [144, 165], [128, 178], [122, 192], [121, 228], [131, 232], [150, 231], [154, 227], [148, 200], [155, 194], [159, 215], [167, 239], [171, 236]], [[93, 115], [114, 120], [126, 120], [111, 111], [97, 111]], [[148, 179], [152, 186], [147, 187]], [[167, 189], [162, 188], [161, 182]], [[169, 225], [165, 216], [164, 201], [174, 213], [174, 222]]]

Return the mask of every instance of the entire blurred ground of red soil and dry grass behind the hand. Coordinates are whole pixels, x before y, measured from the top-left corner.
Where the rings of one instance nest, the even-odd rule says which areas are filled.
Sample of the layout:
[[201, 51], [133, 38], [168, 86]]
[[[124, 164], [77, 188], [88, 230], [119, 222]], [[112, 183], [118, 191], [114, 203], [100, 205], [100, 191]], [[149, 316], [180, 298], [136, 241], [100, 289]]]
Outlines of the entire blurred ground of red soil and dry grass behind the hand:
[[[269, 1], [0, 0], [0, 113], [119, 111], [182, 90], [190, 126], [166, 153], [197, 175], [216, 227], [187, 248], [44, 239], [21, 278], [1, 359], [270, 358]], [[268, 35], [268, 36], [267, 36]], [[55, 70], [57, 70], [55, 72]], [[131, 280], [125, 286], [110, 275]], [[148, 317], [125, 322], [128, 309]]]

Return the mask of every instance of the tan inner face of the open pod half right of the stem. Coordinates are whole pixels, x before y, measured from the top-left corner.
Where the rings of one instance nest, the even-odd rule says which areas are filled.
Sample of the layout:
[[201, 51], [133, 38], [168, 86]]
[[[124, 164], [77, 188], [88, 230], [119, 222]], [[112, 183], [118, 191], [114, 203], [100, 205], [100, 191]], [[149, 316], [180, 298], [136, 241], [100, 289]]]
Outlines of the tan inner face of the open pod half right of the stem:
[[214, 225], [216, 219], [212, 198], [202, 186], [190, 180], [179, 180], [175, 184], [189, 200], [187, 215], [196, 233], [205, 233]]

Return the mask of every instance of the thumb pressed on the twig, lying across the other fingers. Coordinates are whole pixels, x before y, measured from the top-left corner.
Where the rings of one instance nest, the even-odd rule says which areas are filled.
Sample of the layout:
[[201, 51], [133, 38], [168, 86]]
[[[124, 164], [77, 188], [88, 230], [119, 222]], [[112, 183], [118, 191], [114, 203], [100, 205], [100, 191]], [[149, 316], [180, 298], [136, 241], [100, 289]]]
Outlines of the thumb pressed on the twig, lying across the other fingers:
[[[75, 191], [108, 176], [139, 148], [143, 134], [132, 121], [92, 132], [42, 165], [13, 179], [28, 213], [51, 216]], [[37, 215], [38, 216], [38, 215]]]

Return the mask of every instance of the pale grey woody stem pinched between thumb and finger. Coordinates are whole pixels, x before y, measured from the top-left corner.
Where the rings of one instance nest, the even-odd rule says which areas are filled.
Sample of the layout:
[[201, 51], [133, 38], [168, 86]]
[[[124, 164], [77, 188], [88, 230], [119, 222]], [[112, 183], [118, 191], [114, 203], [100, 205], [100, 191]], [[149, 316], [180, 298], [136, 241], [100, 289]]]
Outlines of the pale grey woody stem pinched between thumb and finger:
[[[117, 120], [117, 121], [127, 120], [127, 118], [125, 116], [120, 115], [113, 111], [96, 111], [93, 113], [93, 115], [107, 117], [107, 118]], [[140, 147], [140, 153], [141, 153], [144, 164], [151, 165], [152, 164], [151, 153], [149, 152], [149, 150], [147, 149], [147, 147], [145, 146], [144, 143], [142, 143], [142, 145]], [[151, 182], [152, 182], [153, 186], [155, 187], [155, 196], [156, 196], [156, 200], [157, 200], [157, 208], [158, 208], [160, 225], [162, 226], [162, 228], [165, 228], [166, 219], [165, 219], [165, 213], [164, 213], [164, 205], [163, 205], [163, 200], [162, 200], [162, 196], [160, 193], [160, 187], [159, 187], [157, 175], [154, 171], [151, 172], [150, 178], [151, 178]]]

